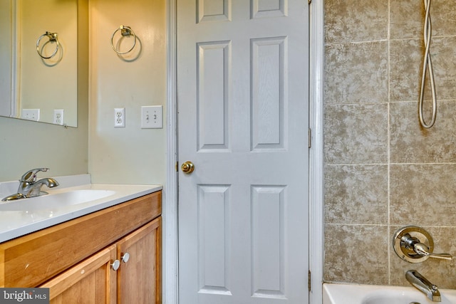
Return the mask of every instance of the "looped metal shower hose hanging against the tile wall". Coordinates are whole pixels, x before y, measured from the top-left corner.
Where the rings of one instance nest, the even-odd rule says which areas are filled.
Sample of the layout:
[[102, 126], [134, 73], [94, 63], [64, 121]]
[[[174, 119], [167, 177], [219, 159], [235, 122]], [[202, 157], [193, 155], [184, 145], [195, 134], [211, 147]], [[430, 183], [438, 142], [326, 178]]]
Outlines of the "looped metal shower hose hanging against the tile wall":
[[[435, 123], [435, 117], [437, 116], [437, 97], [435, 94], [435, 82], [434, 82], [434, 72], [432, 70], [432, 61], [430, 58], [430, 39], [432, 37], [432, 25], [430, 22], [430, 1], [431, 0], [424, 0], [425, 1], [425, 26], [424, 26], [424, 45], [425, 45], [425, 56], [423, 57], [423, 75], [421, 78], [421, 90], [420, 90], [420, 100], [418, 106], [418, 115], [420, 117], [420, 123], [426, 129], [432, 127]], [[426, 78], [426, 70], [429, 72], [429, 80], [430, 80], [430, 90], [432, 94], [432, 118], [429, 123], [426, 123], [423, 117], [423, 98], [425, 93], [425, 78]]]

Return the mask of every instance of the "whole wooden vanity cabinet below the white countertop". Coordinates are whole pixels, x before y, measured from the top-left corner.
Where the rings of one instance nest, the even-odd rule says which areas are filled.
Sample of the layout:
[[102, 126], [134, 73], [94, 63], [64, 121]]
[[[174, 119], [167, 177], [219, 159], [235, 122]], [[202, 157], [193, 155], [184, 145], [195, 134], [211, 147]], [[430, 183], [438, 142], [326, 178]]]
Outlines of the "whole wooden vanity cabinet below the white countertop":
[[[0, 283], [2, 287], [50, 288], [54, 304], [159, 304], [160, 214], [161, 192], [155, 192], [1, 243]], [[71, 234], [76, 231], [78, 234]], [[57, 236], [66, 236], [65, 242]], [[50, 257], [44, 258], [46, 264], [43, 255]], [[115, 271], [112, 264], [116, 260], [120, 266]], [[19, 278], [21, 274], [26, 276]]]

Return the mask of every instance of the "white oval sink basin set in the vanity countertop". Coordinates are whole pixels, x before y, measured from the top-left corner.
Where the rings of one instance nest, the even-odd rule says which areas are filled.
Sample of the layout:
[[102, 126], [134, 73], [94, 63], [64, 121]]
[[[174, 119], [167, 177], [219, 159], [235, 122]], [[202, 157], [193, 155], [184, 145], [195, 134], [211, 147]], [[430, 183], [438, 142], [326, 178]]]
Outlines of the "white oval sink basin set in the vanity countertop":
[[0, 211], [29, 211], [61, 208], [95, 201], [115, 194], [112, 190], [82, 189], [17, 199], [0, 204]]

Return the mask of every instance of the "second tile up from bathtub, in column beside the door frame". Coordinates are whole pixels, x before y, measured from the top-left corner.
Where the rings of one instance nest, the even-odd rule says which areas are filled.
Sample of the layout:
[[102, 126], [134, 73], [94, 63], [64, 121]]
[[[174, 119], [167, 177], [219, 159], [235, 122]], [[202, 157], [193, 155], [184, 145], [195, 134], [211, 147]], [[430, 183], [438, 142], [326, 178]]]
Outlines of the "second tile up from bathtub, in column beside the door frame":
[[326, 165], [325, 223], [388, 224], [388, 166]]

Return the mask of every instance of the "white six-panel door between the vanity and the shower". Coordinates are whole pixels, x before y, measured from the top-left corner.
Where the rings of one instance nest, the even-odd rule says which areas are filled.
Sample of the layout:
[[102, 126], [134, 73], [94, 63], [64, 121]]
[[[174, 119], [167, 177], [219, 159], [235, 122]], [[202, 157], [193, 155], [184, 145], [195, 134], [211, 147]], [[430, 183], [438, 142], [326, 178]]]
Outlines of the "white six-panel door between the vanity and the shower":
[[180, 304], [308, 303], [304, 0], [177, 0]]

